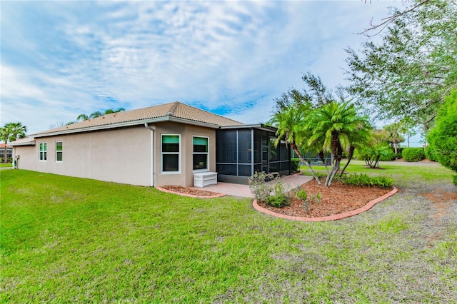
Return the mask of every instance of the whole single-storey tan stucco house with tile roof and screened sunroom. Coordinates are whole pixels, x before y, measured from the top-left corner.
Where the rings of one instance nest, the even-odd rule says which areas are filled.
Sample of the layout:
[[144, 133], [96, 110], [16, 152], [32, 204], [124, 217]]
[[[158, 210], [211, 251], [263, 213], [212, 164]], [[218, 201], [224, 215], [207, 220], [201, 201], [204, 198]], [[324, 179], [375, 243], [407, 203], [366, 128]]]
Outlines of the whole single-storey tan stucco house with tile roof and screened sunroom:
[[10, 143], [17, 168], [138, 186], [193, 186], [194, 174], [247, 183], [255, 171], [288, 174], [276, 129], [166, 103], [107, 114]]

